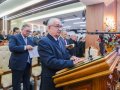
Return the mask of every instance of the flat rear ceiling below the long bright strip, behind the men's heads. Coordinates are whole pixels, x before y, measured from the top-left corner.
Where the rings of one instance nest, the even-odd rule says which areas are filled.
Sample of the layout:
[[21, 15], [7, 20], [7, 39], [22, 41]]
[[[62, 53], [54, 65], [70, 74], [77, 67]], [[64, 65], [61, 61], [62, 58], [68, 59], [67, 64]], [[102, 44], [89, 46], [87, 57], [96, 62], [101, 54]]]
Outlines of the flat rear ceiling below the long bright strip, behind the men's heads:
[[[86, 22], [85, 18], [83, 18], [83, 16], [82, 16], [82, 12], [83, 11], [78, 11], [78, 12], [73, 12], [73, 13], [64, 14], [64, 15], [58, 15], [55, 17], [61, 19], [61, 21], [63, 23], [63, 27], [66, 29], [86, 30], [86, 26], [80, 26], [80, 25], [86, 25], [86, 23], [83, 23], [83, 24], [78, 23], [78, 22]], [[29, 23], [41, 24], [46, 20], [48, 20], [48, 18], [30, 21]], [[76, 24], [74, 24], [74, 23], [76, 23]]]

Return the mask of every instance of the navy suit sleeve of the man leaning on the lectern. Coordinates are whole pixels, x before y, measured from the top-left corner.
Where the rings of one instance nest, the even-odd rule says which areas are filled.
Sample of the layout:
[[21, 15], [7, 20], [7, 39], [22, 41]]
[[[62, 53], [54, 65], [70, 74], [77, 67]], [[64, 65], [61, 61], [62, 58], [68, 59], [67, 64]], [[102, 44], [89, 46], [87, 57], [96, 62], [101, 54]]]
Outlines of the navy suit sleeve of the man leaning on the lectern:
[[73, 61], [57, 59], [53, 54], [52, 48], [43, 40], [39, 42], [38, 52], [41, 58], [41, 63], [50, 69], [61, 70], [73, 66]]

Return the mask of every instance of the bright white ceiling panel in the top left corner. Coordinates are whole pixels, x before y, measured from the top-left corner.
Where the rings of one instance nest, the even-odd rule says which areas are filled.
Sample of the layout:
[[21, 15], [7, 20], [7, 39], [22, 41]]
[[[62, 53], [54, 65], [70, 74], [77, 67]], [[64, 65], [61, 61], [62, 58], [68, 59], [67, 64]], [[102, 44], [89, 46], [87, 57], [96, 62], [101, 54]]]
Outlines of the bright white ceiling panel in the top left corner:
[[6, 0], [0, 4], [0, 17], [45, 0]]

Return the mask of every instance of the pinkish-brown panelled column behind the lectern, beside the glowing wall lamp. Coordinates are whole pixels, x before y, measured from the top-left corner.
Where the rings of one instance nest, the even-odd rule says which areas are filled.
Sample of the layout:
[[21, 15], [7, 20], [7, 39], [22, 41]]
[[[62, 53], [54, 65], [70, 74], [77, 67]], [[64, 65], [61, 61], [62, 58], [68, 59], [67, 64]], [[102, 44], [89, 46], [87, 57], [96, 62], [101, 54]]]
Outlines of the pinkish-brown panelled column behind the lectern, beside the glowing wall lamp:
[[[117, 4], [116, 0], [112, 0], [112, 2], [109, 4], [100, 3], [87, 6], [86, 10], [87, 32], [95, 32], [96, 30], [103, 32], [106, 31], [105, 20], [106, 18], [109, 17], [112, 17], [116, 24], [117, 18], [116, 4]], [[93, 46], [99, 49], [97, 39], [98, 35], [87, 35], [86, 48], [88, 48], [89, 46]]]

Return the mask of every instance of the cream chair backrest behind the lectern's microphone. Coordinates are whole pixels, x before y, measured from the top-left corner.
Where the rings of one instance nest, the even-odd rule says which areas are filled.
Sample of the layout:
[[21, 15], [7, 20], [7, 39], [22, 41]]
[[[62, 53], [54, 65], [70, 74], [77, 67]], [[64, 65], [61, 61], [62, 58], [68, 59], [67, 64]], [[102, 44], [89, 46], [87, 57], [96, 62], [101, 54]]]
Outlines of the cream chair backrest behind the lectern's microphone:
[[94, 47], [91, 47], [90, 49], [86, 48], [85, 49], [85, 58], [88, 59], [89, 54], [90, 54], [92, 56], [92, 58], [95, 59], [98, 57], [98, 52], [99, 52], [99, 50]]

